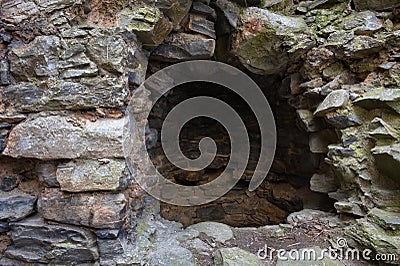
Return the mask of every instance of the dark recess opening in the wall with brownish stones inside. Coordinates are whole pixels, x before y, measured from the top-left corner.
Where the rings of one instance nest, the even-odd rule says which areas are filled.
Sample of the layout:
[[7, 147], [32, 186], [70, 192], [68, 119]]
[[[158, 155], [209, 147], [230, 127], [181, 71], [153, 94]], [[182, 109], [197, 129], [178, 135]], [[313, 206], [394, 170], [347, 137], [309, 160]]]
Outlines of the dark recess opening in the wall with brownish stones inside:
[[[149, 127], [158, 131], [158, 141], [149, 151], [157, 170], [172, 182], [196, 186], [218, 177], [229, 161], [230, 143], [225, 128], [216, 120], [199, 117], [190, 120], [179, 136], [185, 156], [200, 155], [198, 144], [211, 137], [217, 144], [214, 161], [201, 171], [185, 171], [168, 161], [160, 142], [160, 131], [166, 115], [178, 103], [196, 96], [210, 96], [224, 101], [235, 109], [244, 122], [250, 139], [250, 156], [240, 181], [227, 194], [201, 206], [174, 206], [161, 203], [161, 215], [184, 226], [202, 221], [222, 222], [231, 226], [262, 226], [279, 224], [288, 214], [303, 208], [333, 209], [332, 201], [324, 194], [312, 192], [310, 178], [317, 172], [321, 156], [310, 152], [308, 134], [298, 122], [296, 111], [288, 104], [288, 84], [279, 76], [252, 76], [267, 97], [274, 113], [277, 146], [272, 167], [255, 190], [248, 190], [249, 181], [260, 153], [260, 130], [250, 107], [230, 89], [208, 82], [191, 82], [176, 86], [154, 105]], [[290, 95], [290, 92], [289, 92]]]

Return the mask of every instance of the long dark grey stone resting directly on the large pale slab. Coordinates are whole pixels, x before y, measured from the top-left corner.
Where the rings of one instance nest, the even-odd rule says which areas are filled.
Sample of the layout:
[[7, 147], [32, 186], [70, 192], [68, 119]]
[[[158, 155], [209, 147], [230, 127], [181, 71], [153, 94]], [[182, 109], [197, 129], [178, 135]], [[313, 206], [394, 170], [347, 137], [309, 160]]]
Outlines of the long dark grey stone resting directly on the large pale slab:
[[128, 95], [125, 83], [114, 77], [83, 79], [79, 83], [61, 80], [39, 86], [23, 82], [6, 87], [3, 94], [20, 112], [116, 108], [124, 105]]

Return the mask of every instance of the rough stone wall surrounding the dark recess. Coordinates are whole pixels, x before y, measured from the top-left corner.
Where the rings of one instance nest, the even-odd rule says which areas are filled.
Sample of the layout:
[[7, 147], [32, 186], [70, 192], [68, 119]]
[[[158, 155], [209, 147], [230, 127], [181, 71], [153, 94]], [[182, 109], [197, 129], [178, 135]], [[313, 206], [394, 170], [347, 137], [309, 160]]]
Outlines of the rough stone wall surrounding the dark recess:
[[[141, 217], [158, 210], [125, 166], [124, 111], [146, 73], [192, 59], [227, 62], [259, 84], [279, 76], [274, 99], [297, 113], [309, 151], [324, 158], [311, 189], [356, 219], [346, 233], [357, 242], [399, 254], [399, 7], [397, 0], [2, 1], [0, 264], [149, 259], [155, 222]], [[292, 175], [291, 165], [275, 169]]]

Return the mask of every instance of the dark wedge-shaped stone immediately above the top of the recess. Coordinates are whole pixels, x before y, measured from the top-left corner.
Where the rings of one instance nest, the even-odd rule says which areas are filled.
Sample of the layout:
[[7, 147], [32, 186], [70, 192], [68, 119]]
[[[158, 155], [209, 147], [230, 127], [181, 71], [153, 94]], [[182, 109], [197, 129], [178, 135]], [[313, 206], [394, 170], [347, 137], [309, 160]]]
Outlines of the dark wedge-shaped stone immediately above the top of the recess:
[[151, 56], [165, 62], [210, 59], [215, 50], [215, 40], [201, 35], [175, 33], [155, 49]]

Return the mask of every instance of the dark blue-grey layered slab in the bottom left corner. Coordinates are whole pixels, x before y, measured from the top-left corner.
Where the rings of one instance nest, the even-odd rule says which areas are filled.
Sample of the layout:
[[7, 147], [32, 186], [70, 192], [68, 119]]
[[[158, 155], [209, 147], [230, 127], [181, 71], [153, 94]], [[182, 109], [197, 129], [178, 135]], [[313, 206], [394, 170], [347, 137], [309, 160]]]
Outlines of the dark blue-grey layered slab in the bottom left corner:
[[32, 263], [75, 265], [95, 262], [96, 237], [79, 227], [47, 224], [39, 217], [11, 223], [11, 239], [5, 256]]

